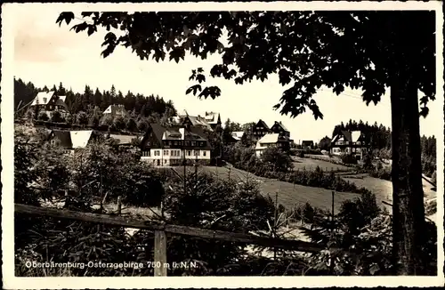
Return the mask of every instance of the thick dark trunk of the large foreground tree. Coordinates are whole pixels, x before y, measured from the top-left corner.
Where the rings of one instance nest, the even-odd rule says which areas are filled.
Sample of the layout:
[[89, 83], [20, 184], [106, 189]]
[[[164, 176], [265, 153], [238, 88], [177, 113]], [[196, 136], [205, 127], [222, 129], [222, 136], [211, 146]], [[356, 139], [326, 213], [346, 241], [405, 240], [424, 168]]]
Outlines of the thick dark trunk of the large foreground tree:
[[392, 78], [392, 258], [396, 275], [424, 275], [425, 208], [417, 84], [407, 66]]

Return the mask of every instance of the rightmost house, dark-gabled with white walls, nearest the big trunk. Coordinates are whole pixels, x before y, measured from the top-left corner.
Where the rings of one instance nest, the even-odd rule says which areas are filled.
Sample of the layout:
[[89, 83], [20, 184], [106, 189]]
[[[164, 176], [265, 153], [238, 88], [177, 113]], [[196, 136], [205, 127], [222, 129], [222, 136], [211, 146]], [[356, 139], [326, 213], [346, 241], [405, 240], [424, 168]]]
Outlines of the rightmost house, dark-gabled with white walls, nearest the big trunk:
[[332, 139], [330, 153], [337, 156], [352, 154], [358, 160], [361, 160], [367, 150], [368, 146], [363, 133], [360, 131], [342, 131]]

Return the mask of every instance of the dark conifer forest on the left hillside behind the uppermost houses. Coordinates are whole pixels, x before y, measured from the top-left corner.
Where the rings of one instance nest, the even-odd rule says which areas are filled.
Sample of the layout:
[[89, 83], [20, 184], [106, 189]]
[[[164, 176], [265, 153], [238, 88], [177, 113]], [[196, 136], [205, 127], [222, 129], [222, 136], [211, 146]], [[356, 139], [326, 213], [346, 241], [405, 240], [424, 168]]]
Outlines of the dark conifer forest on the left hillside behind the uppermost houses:
[[[39, 92], [55, 91], [59, 95], [65, 95], [65, 103], [68, 106], [71, 117], [64, 120], [57, 120], [69, 124], [79, 125], [115, 125], [117, 129], [125, 128], [129, 131], [144, 131], [147, 124], [153, 122], [167, 122], [171, 117], [176, 116], [176, 109], [172, 101], [165, 101], [160, 96], [143, 95], [128, 91], [122, 93], [117, 91], [114, 85], [107, 91], [100, 91], [85, 85], [82, 93], [75, 93], [71, 88], [65, 87], [62, 83], [58, 86], [48, 88], [38, 88], [31, 82], [25, 83], [23, 80], [14, 79], [14, 107], [18, 114], [16, 117], [31, 117], [33, 111], [28, 109], [28, 104], [34, 100]], [[123, 105], [129, 113], [126, 119], [108, 120], [102, 119], [101, 113], [109, 105]], [[33, 116], [35, 117], [35, 116]], [[58, 116], [57, 116], [58, 117]], [[48, 121], [49, 117], [39, 115], [35, 117], [42, 121]]]

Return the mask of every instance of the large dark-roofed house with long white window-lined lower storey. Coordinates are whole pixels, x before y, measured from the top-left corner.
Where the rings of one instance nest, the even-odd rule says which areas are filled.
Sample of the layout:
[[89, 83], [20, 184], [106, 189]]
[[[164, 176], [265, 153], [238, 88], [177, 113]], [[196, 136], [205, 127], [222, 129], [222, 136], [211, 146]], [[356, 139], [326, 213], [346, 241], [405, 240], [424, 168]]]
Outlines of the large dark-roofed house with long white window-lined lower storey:
[[210, 164], [210, 143], [201, 127], [150, 124], [141, 141], [142, 161], [154, 166], [175, 166], [186, 162]]

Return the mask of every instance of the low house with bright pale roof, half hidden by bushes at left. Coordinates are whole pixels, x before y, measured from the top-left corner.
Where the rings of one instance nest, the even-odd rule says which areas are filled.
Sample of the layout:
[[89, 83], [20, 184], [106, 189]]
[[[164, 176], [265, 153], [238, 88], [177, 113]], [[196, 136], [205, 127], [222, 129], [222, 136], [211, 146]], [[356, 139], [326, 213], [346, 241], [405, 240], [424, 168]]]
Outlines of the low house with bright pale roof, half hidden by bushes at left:
[[75, 149], [85, 149], [97, 137], [98, 133], [93, 130], [52, 130], [48, 141], [53, 145], [61, 146], [65, 153], [73, 153]]

